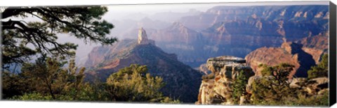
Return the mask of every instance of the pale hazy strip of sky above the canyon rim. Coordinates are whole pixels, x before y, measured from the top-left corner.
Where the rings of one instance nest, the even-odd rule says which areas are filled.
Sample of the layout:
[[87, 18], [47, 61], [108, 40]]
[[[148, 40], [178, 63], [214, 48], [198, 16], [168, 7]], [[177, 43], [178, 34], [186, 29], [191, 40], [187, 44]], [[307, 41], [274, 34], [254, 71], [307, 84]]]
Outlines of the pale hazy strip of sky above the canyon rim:
[[266, 6], [266, 5], [329, 5], [329, 1], [285, 1], [285, 2], [246, 2], [246, 3], [176, 3], [176, 4], [130, 4], [108, 5], [105, 18], [121, 19], [132, 13], [152, 15], [159, 12], [184, 13], [190, 9], [206, 11], [214, 6]]

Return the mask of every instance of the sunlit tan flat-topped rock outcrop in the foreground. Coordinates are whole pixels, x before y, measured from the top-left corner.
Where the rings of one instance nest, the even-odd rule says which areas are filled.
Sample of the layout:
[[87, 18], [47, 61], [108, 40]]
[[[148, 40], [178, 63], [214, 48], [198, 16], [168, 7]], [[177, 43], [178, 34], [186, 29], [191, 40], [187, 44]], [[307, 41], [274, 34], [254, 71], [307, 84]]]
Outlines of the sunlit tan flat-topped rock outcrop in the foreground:
[[254, 75], [253, 70], [247, 66], [246, 61], [234, 56], [218, 56], [207, 61], [206, 65], [214, 73], [213, 79], [204, 79], [199, 88], [198, 105], [233, 105], [232, 82], [239, 72], [246, 77]]

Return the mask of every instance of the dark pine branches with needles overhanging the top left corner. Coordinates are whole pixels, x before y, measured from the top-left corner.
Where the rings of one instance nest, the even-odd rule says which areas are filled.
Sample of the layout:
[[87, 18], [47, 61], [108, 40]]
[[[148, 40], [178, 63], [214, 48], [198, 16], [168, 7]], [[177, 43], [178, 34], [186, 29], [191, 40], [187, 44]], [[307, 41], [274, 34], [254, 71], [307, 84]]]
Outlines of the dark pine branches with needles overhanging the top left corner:
[[[4, 64], [28, 61], [34, 54], [74, 56], [77, 45], [56, 42], [59, 33], [68, 33], [83, 39], [84, 43], [114, 43], [117, 38], [107, 37], [114, 26], [102, 20], [105, 13], [107, 8], [103, 6], [4, 8], [0, 13], [3, 68], [8, 68]], [[38, 21], [25, 22], [17, 17], [34, 17]]]

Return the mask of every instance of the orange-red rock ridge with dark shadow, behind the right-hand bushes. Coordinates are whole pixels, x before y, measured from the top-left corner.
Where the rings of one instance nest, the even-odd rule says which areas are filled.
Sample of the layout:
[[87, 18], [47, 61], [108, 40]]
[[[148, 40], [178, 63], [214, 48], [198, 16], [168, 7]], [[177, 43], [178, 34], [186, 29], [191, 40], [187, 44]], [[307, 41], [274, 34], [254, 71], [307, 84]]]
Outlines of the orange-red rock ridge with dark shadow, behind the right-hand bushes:
[[281, 47], [262, 47], [250, 52], [246, 57], [247, 64], [260, 75], [258, 65], [277, 65], [290, 63], [295, 65], [289, 77], [307, 77], [311, 66], [319, 63], [323, 54], [329, 49], [329, 34], [319, 33], [317, 36], [303, 38], [296, 42], [283, 43]]

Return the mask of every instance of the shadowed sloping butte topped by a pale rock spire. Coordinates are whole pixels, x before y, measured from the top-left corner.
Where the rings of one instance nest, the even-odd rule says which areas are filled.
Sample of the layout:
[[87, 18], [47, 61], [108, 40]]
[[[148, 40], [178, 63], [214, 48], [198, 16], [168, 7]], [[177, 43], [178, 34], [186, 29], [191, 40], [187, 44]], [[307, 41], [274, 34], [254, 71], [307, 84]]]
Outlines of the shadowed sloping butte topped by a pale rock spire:
[[96, 47], [86, 63], [91, 67], [88, 75], [105, 81], [111, 73], [133, 63], [147, 65], [151, 75], [164, 79], [166, 86], [161, 89], [164, 95], [183, 102], [196, 101], [201, 84], [200, 72], [178, 61], [176, 54], [166, 54], [144, 35], [146, 33], [141, 29], [138, 42], [121, 40], [116, 45]]

